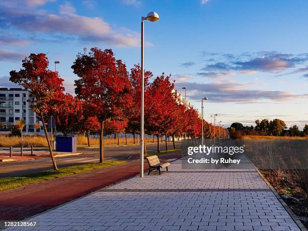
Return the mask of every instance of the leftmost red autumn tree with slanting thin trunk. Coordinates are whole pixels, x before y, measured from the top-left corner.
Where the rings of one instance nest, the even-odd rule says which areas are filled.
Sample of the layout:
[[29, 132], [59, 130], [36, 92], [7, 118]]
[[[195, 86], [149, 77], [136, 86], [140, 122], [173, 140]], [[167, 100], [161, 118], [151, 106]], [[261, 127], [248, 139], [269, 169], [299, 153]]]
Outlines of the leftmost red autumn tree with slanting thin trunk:
[[10, 72], [10, 81], [19, 84], [30, 92], [30, 107], [44, 126], [50, 157], [54, 170], [58, 170], [50, 146], [44, 116], [55, 109], [56, 102], [63, 97], [64, 88], [57, 72], [48, 69], [46, 54], [30, 54], [22, 60], [22, 69]]

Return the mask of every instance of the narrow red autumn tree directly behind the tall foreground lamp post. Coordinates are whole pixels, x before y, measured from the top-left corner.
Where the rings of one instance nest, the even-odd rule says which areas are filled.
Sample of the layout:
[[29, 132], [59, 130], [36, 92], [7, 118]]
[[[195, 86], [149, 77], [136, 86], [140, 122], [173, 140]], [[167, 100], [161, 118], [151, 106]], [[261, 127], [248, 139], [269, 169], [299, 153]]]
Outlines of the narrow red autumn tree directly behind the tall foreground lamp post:
[[[149, 79], [153, 76], [150, 71], [144, 71], [144, 98], [148, 97], [148, 91], [146, 91], [149, 83]], [[133, 104], [128, 110], [128, 123], [127, 123], [127, 132], [133, 134], [134, 142], [135, 142], [135, 134], [140, 134], [140, 98], [141, 98], [141, 68], [139, 65], [134, 65], [133, 68], [130, 69], [129, 74], [129, 82], [130, 82], [130, 95], [133, 99]], [[146, 108], [146, 105], [145, 105]], [[145, 109], [146, 110], [146, 109]]]

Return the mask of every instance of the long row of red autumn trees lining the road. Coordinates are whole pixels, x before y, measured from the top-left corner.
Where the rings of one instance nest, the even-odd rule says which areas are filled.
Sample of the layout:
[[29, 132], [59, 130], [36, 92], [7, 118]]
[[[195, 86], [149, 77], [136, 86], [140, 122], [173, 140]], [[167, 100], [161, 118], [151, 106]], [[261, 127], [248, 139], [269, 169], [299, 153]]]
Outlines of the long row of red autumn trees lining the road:
[[[104, 158], [104, 130], [107, 133], [140, 132], [141, 70], [134, 65], [128, 72], [122, 60], [117, 60], [111, 49], [91, 48], [79, 53], [71, 66], [78, 76], [75, 97], [64, 93], [63, 79], [58, 72], [48, 69], [44, 53], [30, 54], [22, 61], [22, 69], [10, 72], [10, 81], [30, 92], [31, 109], [42, 121], [54, 169], [56, 162], [49, 143], [46, 118], [53, 115], [57, 130], [67, 133], [99, 131], [100, 162]], [[171, 75], [158, 76], [153, 81], [150, 71], [144, 72], [145, 133], [159, 137], [173, 137], [185, 133], [199, 137], [201, 119], [198, 111], [178, 102]], [[204, 137], [213, 136], [213, 126], [203, 121]], [[216, 127], [218, 131], [219, 127]], [[218, 135], [218, 132], [216, 132]]]

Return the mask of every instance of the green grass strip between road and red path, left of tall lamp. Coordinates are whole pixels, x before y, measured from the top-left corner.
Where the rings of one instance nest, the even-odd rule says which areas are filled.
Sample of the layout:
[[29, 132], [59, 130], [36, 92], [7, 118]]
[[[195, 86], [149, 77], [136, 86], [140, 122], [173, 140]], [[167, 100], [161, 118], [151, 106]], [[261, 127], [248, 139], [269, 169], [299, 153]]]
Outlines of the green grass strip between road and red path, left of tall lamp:
[[96, 169], [108, 168], [114, 165], [123, 164], [126, 161], [105, 161], [86, 165], [76, 165], [60, 168], [58, 171], [48, 170], [40, 173], [31, 173], [16, 177], [0, 178], [0, 191], [30, 185], [42, 181], [66, 177], [73, 174], [85, 173]]

